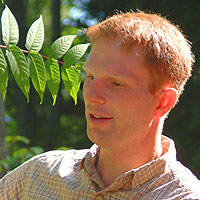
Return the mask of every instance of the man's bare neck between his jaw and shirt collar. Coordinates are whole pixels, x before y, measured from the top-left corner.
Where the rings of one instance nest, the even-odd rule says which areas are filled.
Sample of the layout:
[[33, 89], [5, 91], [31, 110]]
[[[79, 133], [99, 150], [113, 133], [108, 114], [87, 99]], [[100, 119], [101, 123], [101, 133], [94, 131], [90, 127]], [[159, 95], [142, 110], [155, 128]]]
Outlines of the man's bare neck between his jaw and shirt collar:
[[96, 169], [105, 187], [107, 187], [118, 176], [131, 169], [141, 167], [161, 155], [161, 133], [154, 136], [154, 138], [150, 134], [140, 144], [126, 147], [118, 152], [101, 148]]

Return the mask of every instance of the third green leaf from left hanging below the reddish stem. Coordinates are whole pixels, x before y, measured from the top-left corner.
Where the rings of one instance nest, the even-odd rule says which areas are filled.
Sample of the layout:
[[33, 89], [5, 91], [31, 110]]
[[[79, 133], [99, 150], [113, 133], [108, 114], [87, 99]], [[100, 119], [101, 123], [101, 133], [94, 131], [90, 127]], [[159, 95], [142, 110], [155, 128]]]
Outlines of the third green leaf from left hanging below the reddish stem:
[[46, 86], [46, 70], [44, 61], [40, 54], [35, 51], [29, 53], [27, 60], [33, 86], [40, 96], [40, 103], [42, 103]]

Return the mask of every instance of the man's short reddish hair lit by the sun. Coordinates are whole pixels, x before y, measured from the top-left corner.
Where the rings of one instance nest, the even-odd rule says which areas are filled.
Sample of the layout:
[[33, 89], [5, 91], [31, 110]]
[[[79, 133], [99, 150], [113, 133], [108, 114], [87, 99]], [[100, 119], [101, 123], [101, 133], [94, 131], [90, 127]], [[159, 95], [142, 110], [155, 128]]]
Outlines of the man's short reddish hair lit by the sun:
[[177, 26], [158, 14], [116, 14], [89, 27], [86, 35], [92, 44], [102, 37], [119, 39], [128, 52], [142, 45], [152, 93], [168, 82], [180, 95], [191, 76], [194, 55], [190, 42]]

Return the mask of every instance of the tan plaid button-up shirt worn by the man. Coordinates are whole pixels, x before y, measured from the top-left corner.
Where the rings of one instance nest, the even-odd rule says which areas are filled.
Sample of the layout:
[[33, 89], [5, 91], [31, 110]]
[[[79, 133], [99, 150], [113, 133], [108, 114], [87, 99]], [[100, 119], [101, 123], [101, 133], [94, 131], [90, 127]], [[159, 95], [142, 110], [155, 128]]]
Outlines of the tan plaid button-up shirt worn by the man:
[[172, 140], [166, 153], [104, 187], [95, 169], [99, 149], [51, 151], [33, 157], [0, 180], [1, 200], [200, 199], [200, 181], [176, 160]]

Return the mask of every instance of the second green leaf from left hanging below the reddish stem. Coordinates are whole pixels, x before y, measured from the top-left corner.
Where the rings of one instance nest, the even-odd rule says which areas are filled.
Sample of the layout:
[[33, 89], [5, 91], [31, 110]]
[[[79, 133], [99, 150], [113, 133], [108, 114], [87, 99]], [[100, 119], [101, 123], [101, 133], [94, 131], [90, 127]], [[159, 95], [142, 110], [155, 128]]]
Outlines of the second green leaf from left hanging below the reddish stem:
[[9, 47], [6, 51], [6, 55], [10, 63], [12, 74], [29, 102], [30, 79], [26, 58], [21, 49], [14, 45]]

